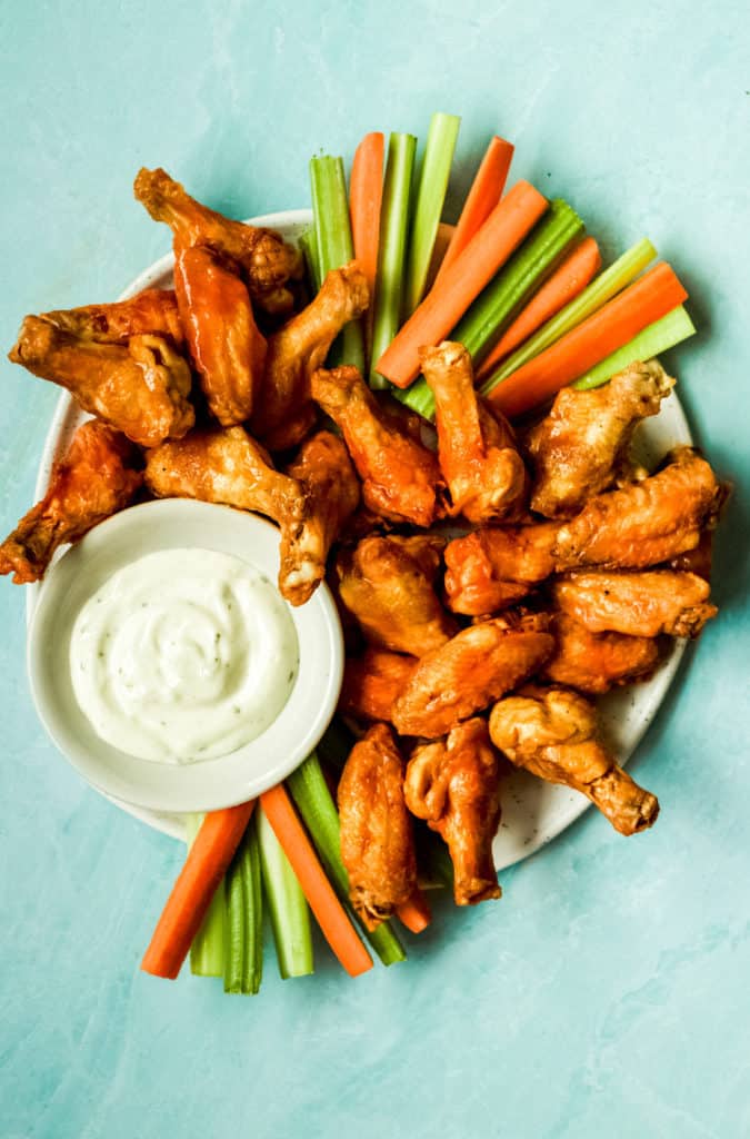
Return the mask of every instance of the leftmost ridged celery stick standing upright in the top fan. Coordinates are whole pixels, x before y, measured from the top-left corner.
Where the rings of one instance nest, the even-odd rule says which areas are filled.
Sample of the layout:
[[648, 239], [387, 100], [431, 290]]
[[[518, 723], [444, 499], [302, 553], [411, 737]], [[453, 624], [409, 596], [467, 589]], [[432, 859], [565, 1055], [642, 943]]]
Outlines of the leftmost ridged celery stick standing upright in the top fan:
[[[354, 257], [349, 203], [346, 196], [344, 159], [330, 155], [310, 159], [310, 181], [315, 218], [318, 270], [321, 281], [331, 269], [339, 269]], [[346, 326], [332, 349], [341, 363], [364, 371], [364, 341], [358, 320]]]

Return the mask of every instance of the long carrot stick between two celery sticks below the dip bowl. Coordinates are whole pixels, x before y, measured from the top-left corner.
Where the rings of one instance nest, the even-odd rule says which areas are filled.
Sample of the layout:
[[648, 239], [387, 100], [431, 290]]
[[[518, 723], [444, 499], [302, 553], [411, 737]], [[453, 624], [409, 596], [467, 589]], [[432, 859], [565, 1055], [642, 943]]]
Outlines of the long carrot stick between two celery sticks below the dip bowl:
[[297, 875], [303, 893], [328, 944], [352, 977], [372, 968], [372, 958], [360, 941], [346, 910], [325, 877], [318, 854], [281, 784], [261, 795], [263, 813]]

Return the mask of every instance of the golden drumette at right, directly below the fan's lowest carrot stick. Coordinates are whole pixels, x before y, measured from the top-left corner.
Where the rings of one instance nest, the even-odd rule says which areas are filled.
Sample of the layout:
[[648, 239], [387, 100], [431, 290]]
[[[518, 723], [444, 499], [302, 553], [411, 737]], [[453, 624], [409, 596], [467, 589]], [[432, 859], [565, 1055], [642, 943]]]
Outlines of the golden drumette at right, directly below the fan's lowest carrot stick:
[[674, 384], [652, 360], [631, 364], [594, 391], [563, 387], [526, 437], [534, 462], [531, 508], [547, 518], [569, 517], [626, 474], [635, 428], [658, 415]]

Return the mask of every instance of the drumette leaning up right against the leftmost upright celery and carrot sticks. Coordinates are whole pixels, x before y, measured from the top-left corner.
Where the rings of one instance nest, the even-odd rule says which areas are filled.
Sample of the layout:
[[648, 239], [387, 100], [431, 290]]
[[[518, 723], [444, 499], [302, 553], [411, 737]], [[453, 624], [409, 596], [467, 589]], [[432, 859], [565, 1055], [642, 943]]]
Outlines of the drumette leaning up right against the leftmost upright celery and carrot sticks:
[[310, 382], [325, 363], [345, 325], [370, 302], [368, 280], [356, 261], [332, 269], [314, 300], [269, 339], [262, 399], [253, 432], [272, 451], [294, 446], [315, 419]]

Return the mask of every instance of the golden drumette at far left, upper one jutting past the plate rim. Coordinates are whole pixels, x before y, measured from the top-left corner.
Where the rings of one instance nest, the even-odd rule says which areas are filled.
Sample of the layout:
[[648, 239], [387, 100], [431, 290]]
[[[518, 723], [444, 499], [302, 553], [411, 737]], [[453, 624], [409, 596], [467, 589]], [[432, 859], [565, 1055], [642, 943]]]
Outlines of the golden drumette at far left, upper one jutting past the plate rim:
[[84, 411], [141, 446], [180, 439], [195, 423], [190, 369], [162, 336], [131, 336], [125, 347], [97, 344], [26, 317], [9, 359], [66, 387]]

